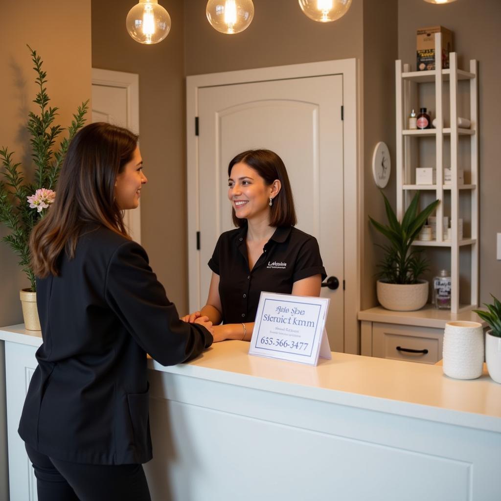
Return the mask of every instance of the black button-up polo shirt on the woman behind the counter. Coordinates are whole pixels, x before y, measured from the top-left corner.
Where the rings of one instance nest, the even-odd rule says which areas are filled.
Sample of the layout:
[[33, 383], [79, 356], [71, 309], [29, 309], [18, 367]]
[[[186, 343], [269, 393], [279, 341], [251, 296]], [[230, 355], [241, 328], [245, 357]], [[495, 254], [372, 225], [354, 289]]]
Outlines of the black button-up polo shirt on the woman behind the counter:
[[292, 226], [275, 230], [250, 271], [246, 235], [247, 226], [222, 233], [208, 263], [219, 275], [224, 324], [254, 322], [262, 291], [291, 294], [298, 280], [327, 277], [317, 239]]

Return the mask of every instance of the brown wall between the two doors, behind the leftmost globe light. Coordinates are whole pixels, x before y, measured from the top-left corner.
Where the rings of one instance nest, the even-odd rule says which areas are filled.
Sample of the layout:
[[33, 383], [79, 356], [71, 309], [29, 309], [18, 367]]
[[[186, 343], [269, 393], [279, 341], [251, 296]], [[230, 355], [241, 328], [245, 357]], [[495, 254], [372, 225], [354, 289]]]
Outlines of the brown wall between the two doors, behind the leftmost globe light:
[[145, 46], [125, 30], [137, 1], [92, 0], [92, 66], [139, 74], [139, 135], [148, 177], [141, 196], [141, 243], [179, 314], [187, 313], [183, 3], [162, 0], [167, 38]]

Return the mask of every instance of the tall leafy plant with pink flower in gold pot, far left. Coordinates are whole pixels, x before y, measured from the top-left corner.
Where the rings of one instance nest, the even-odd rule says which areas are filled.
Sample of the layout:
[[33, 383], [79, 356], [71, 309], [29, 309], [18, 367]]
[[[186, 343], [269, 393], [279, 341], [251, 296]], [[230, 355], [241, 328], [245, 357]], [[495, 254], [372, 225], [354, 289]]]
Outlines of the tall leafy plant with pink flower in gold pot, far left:
[[46, 72], [42, 69], [41, 57], [28, 46], [37, 73], [35, 82], [39, 86], [34, 103], [40, 107], [40, 114], [29, 113], [27, 129], [30, 133], [32, 158], [35, 164], [33, 179], [26, 169], [13, 160], [14, 152], [8, 148], [0, 148], [0, 222], [10, 230], [2, 238], [19, 258], [19, 265], [25, 272], [30, 287], [21, 291], [25, 325], [30, 330], [40, 330], [36, 309], [35, 275], [30, 265], [29, 239], [33, 227], [44, 216], [46, 209], [54, 201], [59, 171], [63, 163], [68, 144], [75, 133], [84, 125], [84, 116], [88, 110], [88, 102], [82, 103], [73, 115], [73, 121], [66, 128], [68, 136], [59, 146], [56, 140], [64, 128], [54, 124], [58, 108], [49, 106], [50, 98], [45, 84]]

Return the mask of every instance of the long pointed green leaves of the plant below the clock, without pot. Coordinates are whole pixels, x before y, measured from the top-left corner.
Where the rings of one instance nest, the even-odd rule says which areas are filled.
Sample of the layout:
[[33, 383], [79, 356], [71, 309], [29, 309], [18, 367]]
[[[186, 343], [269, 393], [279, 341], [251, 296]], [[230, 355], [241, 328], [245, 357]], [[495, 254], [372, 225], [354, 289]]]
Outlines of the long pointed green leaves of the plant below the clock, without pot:
[[372, 217], [369, 219], [388, 243], [379, 245], [384, 250], [384, 257], [378, 265], [377, 277], [389, 284], [417, 284], [419, 277], [428, 269], [422, 249], [412, 248], [412, 242], [421, 231], [428, 216], [436, 209], [440, 200], [435, 200], [418, 212], [419, 193], [416, 193], [405, 211], [402, 222], [399, 222], [390, 202], [383, 192], [388, 224], [382, 224]]

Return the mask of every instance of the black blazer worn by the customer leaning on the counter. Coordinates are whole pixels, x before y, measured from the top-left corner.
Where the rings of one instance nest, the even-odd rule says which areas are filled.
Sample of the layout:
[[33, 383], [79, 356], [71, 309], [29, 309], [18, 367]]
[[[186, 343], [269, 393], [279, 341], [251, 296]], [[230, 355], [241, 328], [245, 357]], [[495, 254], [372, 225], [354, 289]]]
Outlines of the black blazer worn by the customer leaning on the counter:
[[212, 343], [179, 320], [145, 250], [90, 228], [60, 275], [37, 280], [43, 344], [19, 434], [56, 459], [93, 464], [151, 459], [146, 353], [162, 365], [196, 357]]

